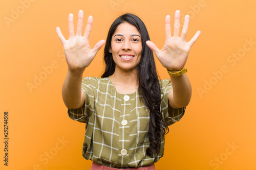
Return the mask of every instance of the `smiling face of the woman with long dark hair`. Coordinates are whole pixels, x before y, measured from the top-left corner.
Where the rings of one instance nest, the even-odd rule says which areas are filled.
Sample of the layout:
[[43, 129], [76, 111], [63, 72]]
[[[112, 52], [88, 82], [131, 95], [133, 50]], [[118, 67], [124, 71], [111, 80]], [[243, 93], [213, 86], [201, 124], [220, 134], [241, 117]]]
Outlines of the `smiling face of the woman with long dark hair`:
[[142, 51], [138, 29], [128, 22], [121, 23], [112, 36], [110, 50], [116, 63], [116, 70], [137, 69]]

